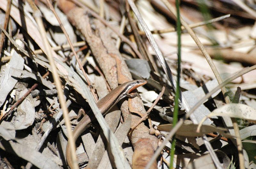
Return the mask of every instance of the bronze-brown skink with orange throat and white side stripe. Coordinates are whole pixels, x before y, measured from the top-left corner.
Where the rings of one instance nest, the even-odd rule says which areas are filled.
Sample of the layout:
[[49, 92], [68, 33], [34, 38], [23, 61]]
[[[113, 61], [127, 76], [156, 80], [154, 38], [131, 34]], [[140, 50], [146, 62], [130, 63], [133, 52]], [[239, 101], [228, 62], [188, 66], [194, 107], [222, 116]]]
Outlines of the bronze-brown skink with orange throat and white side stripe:
[[[105, 115], [108, 113], [108, 111], [121, 99], [124, 97], [134, 98], [136, 96], [139, 96], [139, 94], [130, 94], [130, 92], [144, 84], [146, 84], [147, 81], [145, 80], [135, 80], [135, 81], [128, 81], [126, 83], [123, 83], [113, 89], [111, 92], [108, 93], [105, 97], [103, 97], [99, 102], [97, 102], [97, 106], [100, 109], [101, 114]], [[89, 114], [89, 116], [88, 116]], [[78, 123], [78, 125], [73, 130], [73, 137], [74, 141], [76, 142], [77, 138], [82, 134], [84, 130], [86, 130], [89, 126], [93, 118], [92, 111], [88, 112]], [[92, 119], [93, 118], [93, 119]], [[69, 146], [69, 141], [66, 147], [66, 160], [68, 162], [68, 166], [70, 168], [72, 167], [72, 158], [71, 158], [71, 150]]]

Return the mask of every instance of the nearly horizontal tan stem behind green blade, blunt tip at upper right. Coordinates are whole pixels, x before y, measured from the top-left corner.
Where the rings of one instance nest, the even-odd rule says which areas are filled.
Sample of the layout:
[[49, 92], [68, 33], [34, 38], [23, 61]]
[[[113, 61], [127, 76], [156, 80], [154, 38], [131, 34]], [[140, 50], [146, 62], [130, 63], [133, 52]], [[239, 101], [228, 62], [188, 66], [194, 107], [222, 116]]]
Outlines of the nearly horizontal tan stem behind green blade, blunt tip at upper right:
[[[195, 24], [190, 24], [188, 26], [190, 28], [196, 28], [196, 27], [199, 27], [199, 26], [211, 24], [213, 22], [218, 22], [218, 21], [223, 20], [223, 19], [228, 18], [228, 17], [230, 17], [230, 14], [223, 15], [221, 17], [214, 18], [214, 19], [207, 20], [207, 21], [198, 22], [198, 23], [195, 23]], [[181, 26], [181, 30], [185, 30], [185, 27]], [[153, 31], [151, 31], [151, 33], [153, 33], [153, 34], [154, 33], [168, 33], [168, 32], [175, 32], [175, 31], [176, 31], [175, 28], [169, 28], [169, 29], [163, 29], [163, 30], [153, 30]], [[140, 33], [140, 35], [145, 35], [145, 32], [143, 32], [143, 31], [139, 31], [139, 33]]]

